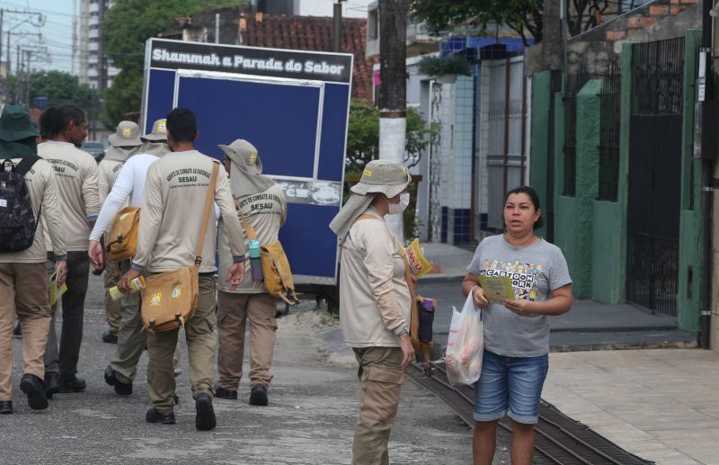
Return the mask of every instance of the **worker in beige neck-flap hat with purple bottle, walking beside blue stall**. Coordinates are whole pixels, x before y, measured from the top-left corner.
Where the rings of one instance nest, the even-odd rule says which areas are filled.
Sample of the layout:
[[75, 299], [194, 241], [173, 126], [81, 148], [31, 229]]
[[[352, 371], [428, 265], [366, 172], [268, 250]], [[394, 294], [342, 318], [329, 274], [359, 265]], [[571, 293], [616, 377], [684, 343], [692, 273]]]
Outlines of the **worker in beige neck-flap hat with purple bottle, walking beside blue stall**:
[[[262, 161], [257, 149], [243, 139], [227, 146], [225, 165], [230, 174], [230, 189], [235, 197], [235, 208], [244, 215], [254, 229], [260, 245], [278, 240], [280, 227], [287, 218], [287, 200], [282, 187], [262, 174]], [[243, 224], [244, 227], [244, 224]], [[245, 231], [244, 249], [247, 250]], [[219, 275], [223, 276], [232, 265], [229, 243], [220, 229]], [[266, 406], [267, 389], [272, 374], [270, 365], [274, 351], [277, 322], [277, 300], [271, 296], [262, 281], [253, 281], [247, 270], [243, 282], [235, 291], [219, 282], [217, 287], [217, 335], [219, 353], [217, 371], [219, 380], [215, 395], [218, 398], [237, 398], [237, 387], [242, 378], [244, 356], [244, 329], [250, 321], [250, 405]]]

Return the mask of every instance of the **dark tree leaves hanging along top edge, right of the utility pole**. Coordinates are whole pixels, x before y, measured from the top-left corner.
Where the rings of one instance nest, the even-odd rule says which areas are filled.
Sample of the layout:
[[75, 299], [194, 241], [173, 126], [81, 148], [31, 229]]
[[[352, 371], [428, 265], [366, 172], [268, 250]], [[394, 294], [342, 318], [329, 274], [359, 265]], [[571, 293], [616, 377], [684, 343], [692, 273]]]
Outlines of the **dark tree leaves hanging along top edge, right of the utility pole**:
[[468, 23], [486, 28], [506, 24], [528, 44], [542, 40], [544, 0], [409, 0], [413, 17], [432, 31]]

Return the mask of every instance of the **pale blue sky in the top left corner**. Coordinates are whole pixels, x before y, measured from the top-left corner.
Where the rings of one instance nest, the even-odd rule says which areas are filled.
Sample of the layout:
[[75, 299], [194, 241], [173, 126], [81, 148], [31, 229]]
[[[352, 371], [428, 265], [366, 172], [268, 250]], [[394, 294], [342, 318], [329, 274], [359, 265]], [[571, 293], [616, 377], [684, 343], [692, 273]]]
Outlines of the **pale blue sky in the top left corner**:
[[[73, 3], [75, 0], [0, 0], [4, 10], [31, 10], [45, 14], [42, 27], [36, 27], [27, 14], [4, 13], [3, 21], [3, 61], [7, 59], [7, 31], [12, 31], [11, 55], [12, 70], [17, 69], [15, 62], [17, 45], [21, 47], [47, 47], [49, 57], [37, 56], [31, 63], [31, 69], [59, 69], [69, 72], [72, 68], [73, 49]], [[42, 42], [37, 37], [42, 34]], [[21, 34], [22, 33], [22, 34]], [[34, 34], [34, 35], [24, 35]]]

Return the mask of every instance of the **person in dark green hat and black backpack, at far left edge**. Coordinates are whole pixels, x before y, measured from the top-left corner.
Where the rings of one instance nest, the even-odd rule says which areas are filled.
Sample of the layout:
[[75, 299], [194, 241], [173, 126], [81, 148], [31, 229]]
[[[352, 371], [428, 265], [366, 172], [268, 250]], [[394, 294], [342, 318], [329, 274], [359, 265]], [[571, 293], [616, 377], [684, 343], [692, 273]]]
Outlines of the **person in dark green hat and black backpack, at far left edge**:
[[[20, 389], [33, 409], [48, 407], [43, 378], [42, 354], [50, 325], [48, 284], [45, 281], [45, 229], [49, 229], [55, 272], [62, 285], [67, 274], [65, 236], [60, 222], [58, 186], [52, 166], [43, 159], [32, 163], [37, 131], [28, 112], [21, 106], [7, 105], [0, 116], [0, 159], [11, 159], [15, 169], [22, 164], [35, 218], [32, 245], [17, 252], [0, 253], [0, 414], [13, 413], [13, 321], [22, 326], [22, 379]], [[22, 163], [24, 160], [24, 163]], [[2, 202], [4, 201], [4, 202]], [[0, 205], [7, 206], [6, 199]]]

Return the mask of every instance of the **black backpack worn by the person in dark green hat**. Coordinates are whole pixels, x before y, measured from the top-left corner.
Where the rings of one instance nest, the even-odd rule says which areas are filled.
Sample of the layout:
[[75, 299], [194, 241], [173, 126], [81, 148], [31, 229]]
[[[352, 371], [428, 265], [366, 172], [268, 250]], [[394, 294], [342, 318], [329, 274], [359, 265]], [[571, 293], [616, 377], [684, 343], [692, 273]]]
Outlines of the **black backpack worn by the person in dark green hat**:
[[[32, 246], [38, 224], [25, 174], [40, 156], [25, 156], [17, 165], [5, 160], [0, 165], [0, 253], [18, 252]], [[40, 219], [40, 210], [38, 219]]]

